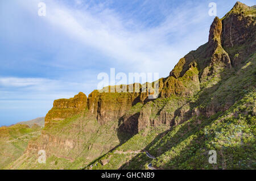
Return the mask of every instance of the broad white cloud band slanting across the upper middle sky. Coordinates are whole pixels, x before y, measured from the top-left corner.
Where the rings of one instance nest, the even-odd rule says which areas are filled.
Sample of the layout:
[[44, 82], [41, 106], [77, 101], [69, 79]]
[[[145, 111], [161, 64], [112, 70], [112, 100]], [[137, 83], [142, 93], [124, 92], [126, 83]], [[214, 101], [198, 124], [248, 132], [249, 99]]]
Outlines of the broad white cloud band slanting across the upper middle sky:
[[[163, 23], [148, 28], [133, 19], [123, 18], [106, 8], [104, 3], [82, 10], [53, 1], [46, 1], [46, 5], [45, 18], [56, 31], [65, 32], [72, 39], [97, 49], [112, 62], [123, 64], [126, 71], [159, 72], [167, 76], [179, 58], [191, 50], [187, 47], [195, 47], [187, 41], [200, 37], [205, 31], [187, 33], [191, 24], [204, 18], [201, 7], [193, 10], [177, 8]], [[170, 40], [172, 37], [180, 39], [174, 43]], [[198, 46], [202, 41], [203, 37], [197, 40]]]

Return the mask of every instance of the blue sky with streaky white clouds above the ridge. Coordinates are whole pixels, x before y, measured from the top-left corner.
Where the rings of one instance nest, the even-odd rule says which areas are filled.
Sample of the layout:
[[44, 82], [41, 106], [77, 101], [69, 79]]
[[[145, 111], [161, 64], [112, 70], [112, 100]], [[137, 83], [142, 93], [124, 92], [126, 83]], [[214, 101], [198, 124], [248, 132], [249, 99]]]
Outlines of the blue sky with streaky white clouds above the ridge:
[[[46, 3], [46, 16], [38, 16], [39, 2]], [[88, 95], [110, 68], [167, 77], [181, 57], [207, 42], [210, 2], [219, 17], [236, 3], [1, 1], [0, 126], [45, 116], [55, 99]]]

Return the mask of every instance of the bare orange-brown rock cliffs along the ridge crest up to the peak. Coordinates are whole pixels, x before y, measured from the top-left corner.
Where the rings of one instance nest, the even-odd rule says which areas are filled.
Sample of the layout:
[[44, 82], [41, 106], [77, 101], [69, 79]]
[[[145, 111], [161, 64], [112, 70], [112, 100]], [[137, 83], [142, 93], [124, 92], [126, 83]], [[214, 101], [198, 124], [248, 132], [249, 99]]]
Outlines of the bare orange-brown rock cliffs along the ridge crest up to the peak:
[[[209, 77], [218, 73], [220, 69], [221, 71], [223, 71], [222, 69], [236, 69], [238, 65], [243, 63], [246, 55], [255, 52], [255, 16], [246, 15], [246, 11], [251, 11], [252, 9], [254, 8], [237, 2], [224, 18], [219, 19], [216, 17], [210, 26], [208, 43], [181, 58], [171, 71], [169, 77], [159, 79], [159, 97], [193, 96], [196, 91], [201, 89], [200, 82], [207, 81], [205, 78], [209, 79]], [[235, 14], [233, 13], [234, 11], [241, 11], [241, 14]], [[230, 30], [232, 30], [232, 32]], [[238, 50], [237, 54], [239, 55], [236, 56], [236, 54], [233, 53], [234, 50], [230, 48], [236, 49], [236, 47], [240, 45], [249, 47]], [[55, 100], [53, 109], [49, 111], [46, 116], [46, 125], [51, 119], [63, 120], [64, 118], [80, 113], [85, 110], [85, 108], [88, 109], [90, 113], [96, 115], [100, 124], [104, 124], [106, 121], [119, 119], [124, 116], [125, 112], [130, 110], [135, 104], [147, 102], [147, 96], [148, 92], [145, 94], [141, 91], [139, 93], [100, 93], [98, 90], [94, 90], [87, 99], [86, 95], [80, 92], [79, 95], [71, 99]], [[72, 102], [73, 99], [76, 99], [80, 104], [77, 104], [77, 106], [75, 106], [74, 103], [72, 106], [66, 105], [71, 104], [68, 102]], [[229, 104], [232, 103], [226, 104], [224, 106], [225, 109], [230, 106]], [[60, 108], [61, 111], [63, 111], [57, 113], [56, 116], [59, 115], [63, 117], [51, 117], [55, 108]], [[71, 108], [73, 110], [68, 111]], [[67, 113], [65, 113], [66, 111]], [[212, 106], [201, 110], [201, 112], [204, 112], [207, 116], [218, 111], [220, 111], [220, 108], [213, 108]], [[180, 114], [183, 115], [185, 112], [186, 110], [183, 110]], [[160, 119], [166, 123], [167, 120], [164, 117], [168, 117], [167, 113], [160, 112], [160, 115], [162, 115]], [[139, 130], [144, 128], [142, 126], [144, 123], [140, 122], [147, 122], [143, 117], [144, 114], [142, 112], [139, 119], [139, 124], [141, 125]], [[168, 117], [168, 120], [170, 120], [170, 118], [171, 117]]]

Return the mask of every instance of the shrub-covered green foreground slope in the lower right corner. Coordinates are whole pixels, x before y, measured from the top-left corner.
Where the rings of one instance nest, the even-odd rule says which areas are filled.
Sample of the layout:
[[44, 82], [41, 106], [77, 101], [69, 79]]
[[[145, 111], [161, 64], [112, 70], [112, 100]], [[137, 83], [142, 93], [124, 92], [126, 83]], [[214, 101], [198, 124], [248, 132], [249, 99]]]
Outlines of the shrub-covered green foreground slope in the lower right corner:
[[[255, 169], [255, 98], [256, 92], [250, 92], [222, 114], [203, 120], [193, 117], [179, 125], [176, 129], [182, 137], [171, 131], [151, 147], [151, 153], [158, 155], [153, 165], [163, 169]], [[158, 154], [157, 148], [166, 150]], [[217, 151], [216, 165], [208, 163], [209, 150]]]

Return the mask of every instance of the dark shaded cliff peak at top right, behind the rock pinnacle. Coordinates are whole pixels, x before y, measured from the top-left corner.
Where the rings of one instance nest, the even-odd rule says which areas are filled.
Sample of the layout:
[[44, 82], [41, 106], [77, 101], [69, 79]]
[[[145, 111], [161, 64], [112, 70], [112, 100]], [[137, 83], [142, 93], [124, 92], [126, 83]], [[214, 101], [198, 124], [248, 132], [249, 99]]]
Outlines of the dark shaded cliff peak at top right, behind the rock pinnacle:
[[237, 2], [222, 18], [222, 46], [230, 55], [234, 68], [238, 68], [246, 57], [255, 52], [256, 7]]

